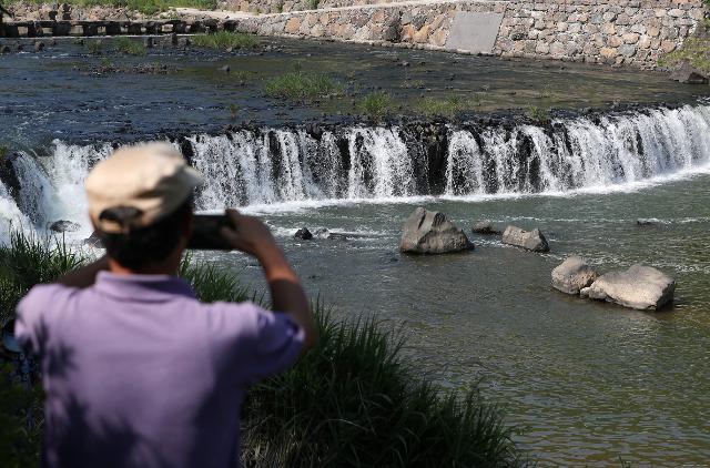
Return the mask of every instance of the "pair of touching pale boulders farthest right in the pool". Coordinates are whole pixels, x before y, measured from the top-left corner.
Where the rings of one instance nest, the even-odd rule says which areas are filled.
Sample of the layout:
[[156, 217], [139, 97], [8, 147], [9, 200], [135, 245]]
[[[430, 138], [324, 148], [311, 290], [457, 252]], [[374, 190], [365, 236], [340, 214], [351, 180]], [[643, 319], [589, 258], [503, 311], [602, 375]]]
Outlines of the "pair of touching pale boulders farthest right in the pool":
[[676, 281], [641, 264], [598, 276], [581, 257], [572, 256], [552, 269], [552, 287], [629, 308], [658, 311], [672, 302]]

